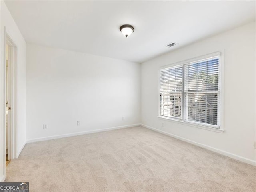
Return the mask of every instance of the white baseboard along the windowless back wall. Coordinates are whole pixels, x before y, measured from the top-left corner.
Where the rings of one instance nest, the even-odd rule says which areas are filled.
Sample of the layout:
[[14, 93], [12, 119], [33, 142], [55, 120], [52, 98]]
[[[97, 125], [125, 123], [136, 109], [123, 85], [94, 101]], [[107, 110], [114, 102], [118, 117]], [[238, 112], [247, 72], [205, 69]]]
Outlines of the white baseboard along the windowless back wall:
[[40, 138], [35, 138], [35, 139], [28, 139], [27, 143], [32, 143], [36, 141], [46, 141], [46, 140], [51, 140], [51, 139], [58, 139], [58, 138], [63, 138], [63, 137], [71, 137], [71, 136], [76, 136], [76, 135], [84, 135], [84, 134], [89, 134], [89, 133], [97, 133], [97, 132], [102, 132], [102, 131], [110, 131], [110, 130], [115, 130], [115, 129], [122, 129], [122, 128], [128, 128], [128, 127], [136, 127], [140, 126], [141, 124], [132, 124], [132, 125], [123, 125], [123, 126], [118, 126], [118, 127], [110, 127], [110, 128], [105, 128], [105, 129], [96, 129], [92, 131], [81, 131], [81, 132], [76, 132], [76, 133], [68, 133], [68, 134], [63, 134], [63, 135], [54, 135], [50, 137], [40, 137]]

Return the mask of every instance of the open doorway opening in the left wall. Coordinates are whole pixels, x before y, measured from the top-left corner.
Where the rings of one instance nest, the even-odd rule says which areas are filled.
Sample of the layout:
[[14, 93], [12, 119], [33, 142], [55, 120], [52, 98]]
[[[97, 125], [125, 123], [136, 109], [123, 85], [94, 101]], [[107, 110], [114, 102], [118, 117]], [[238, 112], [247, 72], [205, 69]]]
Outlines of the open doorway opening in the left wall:
[[16, 158], [16, 131], [15, 131], [15, 67], [16, 67], [16, 46], [6, 34], [6, 166], [10, 160]]

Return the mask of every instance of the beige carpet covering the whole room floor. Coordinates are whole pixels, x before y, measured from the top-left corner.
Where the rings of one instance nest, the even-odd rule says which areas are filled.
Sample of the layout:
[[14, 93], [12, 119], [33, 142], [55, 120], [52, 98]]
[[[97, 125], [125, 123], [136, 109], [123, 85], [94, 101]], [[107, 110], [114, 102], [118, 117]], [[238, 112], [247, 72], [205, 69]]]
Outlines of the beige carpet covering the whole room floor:
[[30, 192], [256, 191], [256, 167], [143, 127], [26, 144], [6, 175]]

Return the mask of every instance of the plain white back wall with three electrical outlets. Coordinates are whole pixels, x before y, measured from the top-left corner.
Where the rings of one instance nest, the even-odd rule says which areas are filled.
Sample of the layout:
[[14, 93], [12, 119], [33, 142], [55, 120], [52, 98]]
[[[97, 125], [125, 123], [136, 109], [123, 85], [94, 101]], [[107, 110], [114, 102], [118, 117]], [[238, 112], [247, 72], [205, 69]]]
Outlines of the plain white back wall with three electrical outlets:
[[137, 123], [140, 64], [27, 45], [28, 142]]

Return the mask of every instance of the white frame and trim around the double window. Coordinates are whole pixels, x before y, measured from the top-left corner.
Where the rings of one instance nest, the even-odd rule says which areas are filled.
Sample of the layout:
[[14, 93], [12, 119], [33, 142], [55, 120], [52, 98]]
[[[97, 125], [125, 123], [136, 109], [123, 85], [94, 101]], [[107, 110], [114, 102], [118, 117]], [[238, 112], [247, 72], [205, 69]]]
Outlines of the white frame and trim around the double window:
[[[204, 59], [208, 59], [211, 57], [219, 57], [219, 108], [218, 108], [218, 113], [219, 113], [219, 121], [220, 124], [217, 125], [210, 125], [210, 124], [206, 124], [206, 123], [200, 123], [200, 122], [195, 122], [195, 121], [188, 121], [184, 118], [184, 107], [185, 103], [184, 103], [184, 98], [185, 98], [185, 93], [184, 93], [184, 73], [183, 73], [183, 90], [182, 90], [182, 115], [181, 115], [181, 119], [177, 119], [174, 117], [166, 117], [166, 116], [162, 116], [160, 115], [160, 74], [161, 71], [170, 67], [175, 67], [178, 65], [183, 65], [183, 71], [184, 71], [184, 65], [188, 64], [188, 63], [194, 63], [196, 61], [200, 61], [200, 60], [204, 60]], [[214, 53], [210, 53], [207, 55], [202, 55], [199, 57], [194, 57], [192, 59], [187, 59], [184, 61], [180, 61], [177, 63], [172, 63], [170, 65], [165, 65], [163, 67], [161, 67], [158, 71], [158, 115], [157, 117], [162, 119], [162, 120], [166, 120], [166, 121], [172, 121], [174, 123], [178, 123], [178, 124], [183, 124], [183, 125], [187, 125], [187, 126], [192, 126], [192, 127], [197, 127], [200, 129], [206, 129], [209, 131], [215, 131], [215, 132], [219, 132], [219, 133], [223, 133], [224, 130], [224, 50], [222, 52], [218, 51], [218, 52], [214, 52]]]

